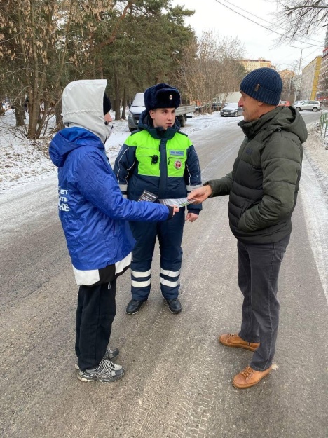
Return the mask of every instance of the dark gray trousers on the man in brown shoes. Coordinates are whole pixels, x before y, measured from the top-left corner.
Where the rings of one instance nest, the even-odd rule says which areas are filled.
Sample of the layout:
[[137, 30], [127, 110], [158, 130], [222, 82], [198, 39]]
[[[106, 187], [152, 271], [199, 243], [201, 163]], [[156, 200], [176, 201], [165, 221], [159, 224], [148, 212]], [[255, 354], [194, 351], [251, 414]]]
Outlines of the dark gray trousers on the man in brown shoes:
[[240, 338], [259, 342], [250, 367], [264, 371], [275, 355], [279, 324], [278, 276], [290, 235], [277, 243], [253, 244], [238, 240], [238, 284], [244, 301]]

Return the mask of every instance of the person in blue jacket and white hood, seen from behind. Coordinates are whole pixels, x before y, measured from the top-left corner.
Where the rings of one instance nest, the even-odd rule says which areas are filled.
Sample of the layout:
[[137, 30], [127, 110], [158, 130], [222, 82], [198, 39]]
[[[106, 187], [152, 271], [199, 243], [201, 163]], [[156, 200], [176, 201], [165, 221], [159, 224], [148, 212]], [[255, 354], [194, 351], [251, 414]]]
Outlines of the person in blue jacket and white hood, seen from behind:
[[165, 221], [176, 207], [124, 199], [104, 143], [111, 132], [106, 80], [74, 81], [62, 94], [64, 130], [50, 143], [58, 167], [59, 216], [79, 285], [76, 355], [81, 381], [111, 382], [124, 369], [111, 362], [116, 278], [129, 266], [135, 240], [128, 221]]

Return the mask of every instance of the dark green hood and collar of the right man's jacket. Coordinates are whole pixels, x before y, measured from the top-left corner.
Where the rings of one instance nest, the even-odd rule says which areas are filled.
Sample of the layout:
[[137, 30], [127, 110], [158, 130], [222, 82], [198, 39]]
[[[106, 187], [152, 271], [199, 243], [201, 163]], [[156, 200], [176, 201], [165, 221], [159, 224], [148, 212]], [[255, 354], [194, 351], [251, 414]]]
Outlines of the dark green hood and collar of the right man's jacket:
[[274, 131], [285, 130], [299, 137], [301, 143], [306, 142], [308, 130], [303, 117], [293, 107], [277, 107], [252, 122], [241, 121], [238, 123], [244, 134], [252, 139], [263, 129], [268, 135]]

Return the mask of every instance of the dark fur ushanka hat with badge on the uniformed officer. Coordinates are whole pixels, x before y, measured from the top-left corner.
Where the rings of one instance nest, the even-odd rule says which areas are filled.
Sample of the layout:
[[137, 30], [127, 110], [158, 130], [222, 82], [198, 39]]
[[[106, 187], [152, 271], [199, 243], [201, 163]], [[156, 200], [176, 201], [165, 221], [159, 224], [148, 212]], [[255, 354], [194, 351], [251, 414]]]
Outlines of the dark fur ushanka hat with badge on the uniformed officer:
[[180, 104], [180, 93], [175, 87], [167, 83], [158, 83], [144, 92], [144, 106], [146, 109], [177, 108]]

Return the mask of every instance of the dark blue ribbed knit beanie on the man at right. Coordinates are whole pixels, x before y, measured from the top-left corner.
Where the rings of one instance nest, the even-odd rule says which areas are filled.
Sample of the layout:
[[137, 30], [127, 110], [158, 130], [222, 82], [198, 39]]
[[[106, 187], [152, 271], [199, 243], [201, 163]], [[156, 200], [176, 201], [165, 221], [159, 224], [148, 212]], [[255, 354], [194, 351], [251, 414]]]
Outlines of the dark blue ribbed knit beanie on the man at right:
[[277, 71], [262, 67], [250, 71], [242, 79], [240, 91], [266, 104], [278, 105], [282, 92], [282, 80]]

